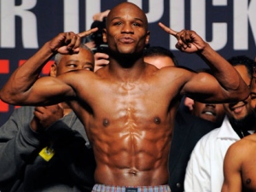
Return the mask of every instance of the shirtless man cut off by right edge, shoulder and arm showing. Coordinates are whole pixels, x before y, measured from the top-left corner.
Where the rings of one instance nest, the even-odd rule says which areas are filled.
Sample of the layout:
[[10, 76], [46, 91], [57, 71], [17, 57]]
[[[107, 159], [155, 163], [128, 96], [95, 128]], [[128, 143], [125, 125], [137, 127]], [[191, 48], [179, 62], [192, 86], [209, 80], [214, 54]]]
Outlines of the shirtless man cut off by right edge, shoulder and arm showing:
[[[256, 73], [251, 84], [251, 106], [256, 112]], [[255, 119], [252, 119], [255, 121]], [[224, 158], [222, 192], [256, 191], [256, 134], [232, 144]]]

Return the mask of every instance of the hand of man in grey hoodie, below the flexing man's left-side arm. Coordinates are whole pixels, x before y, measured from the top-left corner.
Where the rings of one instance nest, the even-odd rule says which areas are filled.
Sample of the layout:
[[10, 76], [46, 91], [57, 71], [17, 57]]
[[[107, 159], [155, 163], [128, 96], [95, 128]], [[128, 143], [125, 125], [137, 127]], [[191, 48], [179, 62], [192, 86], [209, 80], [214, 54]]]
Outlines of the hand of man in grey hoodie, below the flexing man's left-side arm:
[[31, 121], [33, 131], [41, 132], [52, 125], [56, 120], [64, 116], [64, 109], [61, 104], [36, 107], [34, 110], [34, 117]]

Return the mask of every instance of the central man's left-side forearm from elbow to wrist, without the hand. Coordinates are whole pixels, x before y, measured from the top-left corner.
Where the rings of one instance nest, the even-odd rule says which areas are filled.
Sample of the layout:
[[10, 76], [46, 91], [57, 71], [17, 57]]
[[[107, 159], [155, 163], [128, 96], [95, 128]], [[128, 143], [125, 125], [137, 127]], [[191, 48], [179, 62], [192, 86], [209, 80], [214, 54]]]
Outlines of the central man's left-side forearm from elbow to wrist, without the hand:
[[23, 96], [25, 97], [24, 93], [38, 79], [42, 68], [52, 55], [54, 55], [54, 52], [50, 49], [49, 42], [47, 42], [35, 55], [18, 67], [0, 91], [0, 98], [3, 102], [12, 103], [12, 98], [22, 99]]

